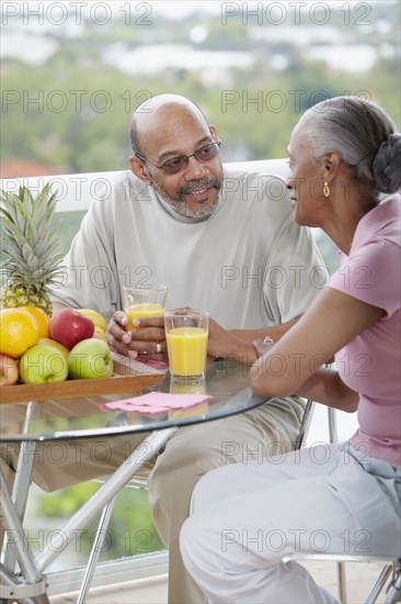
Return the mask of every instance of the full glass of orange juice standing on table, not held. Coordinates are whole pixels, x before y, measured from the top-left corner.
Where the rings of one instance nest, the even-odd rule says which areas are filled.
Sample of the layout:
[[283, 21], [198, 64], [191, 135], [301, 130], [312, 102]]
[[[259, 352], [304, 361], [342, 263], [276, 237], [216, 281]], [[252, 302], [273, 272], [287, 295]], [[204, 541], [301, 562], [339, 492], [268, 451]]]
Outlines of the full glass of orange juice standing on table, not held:
[[164, 329], [168, 344], [170, 374], [196, 380], [206, 371], [209, 315], [193, 309], [167, 311]]

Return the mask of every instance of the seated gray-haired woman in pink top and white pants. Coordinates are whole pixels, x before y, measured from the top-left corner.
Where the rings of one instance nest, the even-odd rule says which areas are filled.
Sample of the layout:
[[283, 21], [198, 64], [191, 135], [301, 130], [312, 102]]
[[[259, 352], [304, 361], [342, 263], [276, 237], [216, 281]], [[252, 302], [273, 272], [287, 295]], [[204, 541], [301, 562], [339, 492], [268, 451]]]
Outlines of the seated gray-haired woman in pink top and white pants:
[[[204, 477], [181, 534], [209, 602], [337, 602], [283, 558], [297, 551], [400, 556], [401, 135], [377, 104], [339, 97], [308, 110], [288, 146], [298, 224], [320, 226], [341, 268], [251, 369], [256, 393], [344, 411], [343, 446], [239, 463]], [[322, 369], [335, 355], [337, 371]]]

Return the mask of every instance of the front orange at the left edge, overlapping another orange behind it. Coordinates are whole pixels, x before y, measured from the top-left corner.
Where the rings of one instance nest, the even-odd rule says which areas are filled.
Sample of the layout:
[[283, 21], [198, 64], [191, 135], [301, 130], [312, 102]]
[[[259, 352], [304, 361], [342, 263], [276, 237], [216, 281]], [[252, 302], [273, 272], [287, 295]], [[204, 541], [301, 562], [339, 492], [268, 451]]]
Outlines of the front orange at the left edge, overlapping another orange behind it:
[[34, 316], [22, 307], [0, 311], [0, 353], [19, 358], [39, 337], [39, 325]]

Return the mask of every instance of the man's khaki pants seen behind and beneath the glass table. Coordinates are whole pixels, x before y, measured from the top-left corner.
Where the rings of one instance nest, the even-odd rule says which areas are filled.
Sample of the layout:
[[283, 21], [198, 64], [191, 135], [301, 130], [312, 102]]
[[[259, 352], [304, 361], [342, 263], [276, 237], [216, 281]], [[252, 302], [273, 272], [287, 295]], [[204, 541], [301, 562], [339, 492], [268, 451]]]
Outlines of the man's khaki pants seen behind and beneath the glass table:
[[[187, 574], [180, 553], [180, 529], [190, 512], [192, 491], [202, 476], [227, 463], [279, 455], [294, 448], [303, 411], [291, 400], [270, 401], [253, 411], [180, 428], [157, 458], [149, 480], [149, 502], [160, 538], [169, 548], [169, 602], [205, 602]], [[106, 476], [124, 463], [146, 434], [39, 443], [33, 480], [55, 491]], [[16, 468], [19, 445], [2, 444], [9, 483]], [[152, 465], [153, 465], [152, 463]], [[150, 465], [149, 465], [150, 466]]]

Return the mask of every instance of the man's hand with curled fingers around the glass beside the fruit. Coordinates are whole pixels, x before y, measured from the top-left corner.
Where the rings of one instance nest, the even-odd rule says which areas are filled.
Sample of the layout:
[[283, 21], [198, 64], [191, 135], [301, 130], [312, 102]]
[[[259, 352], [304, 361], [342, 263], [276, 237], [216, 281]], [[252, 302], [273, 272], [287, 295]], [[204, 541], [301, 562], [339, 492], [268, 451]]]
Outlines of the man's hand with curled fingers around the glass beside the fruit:
[[125, 331], [128, 324], [123, 311], [116, 311], [108, 323], [110, 347], [121, 355], [133, 359], [140, 355], [147, 355], [158, 360], [167, 358], [167, 342], [164, 335], [164, 318], [142, 317], [136, 318], [134, 324], [138, 329]]

